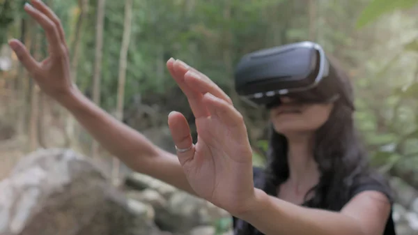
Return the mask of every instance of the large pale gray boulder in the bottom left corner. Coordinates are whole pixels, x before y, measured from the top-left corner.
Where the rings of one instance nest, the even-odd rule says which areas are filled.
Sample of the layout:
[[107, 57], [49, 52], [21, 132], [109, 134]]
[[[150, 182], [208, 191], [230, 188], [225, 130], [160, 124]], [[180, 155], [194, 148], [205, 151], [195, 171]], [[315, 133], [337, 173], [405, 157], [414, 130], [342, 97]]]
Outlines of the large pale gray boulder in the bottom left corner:
[[94, 162], [67, 149], [31, 153], [0, 182], [1, 235], [160, 234]]

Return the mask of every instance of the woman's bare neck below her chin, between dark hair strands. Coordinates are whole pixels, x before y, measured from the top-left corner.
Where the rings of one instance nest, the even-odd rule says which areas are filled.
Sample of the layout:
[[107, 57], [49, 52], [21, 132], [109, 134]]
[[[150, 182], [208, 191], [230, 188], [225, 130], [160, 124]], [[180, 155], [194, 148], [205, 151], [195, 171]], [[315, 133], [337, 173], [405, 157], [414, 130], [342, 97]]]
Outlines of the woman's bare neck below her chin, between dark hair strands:
[[312, 135], [288, 138], [288, 183], [297, 191], [309, 189], [318, 183], [319, 170], [314, 159], [313, 146]]

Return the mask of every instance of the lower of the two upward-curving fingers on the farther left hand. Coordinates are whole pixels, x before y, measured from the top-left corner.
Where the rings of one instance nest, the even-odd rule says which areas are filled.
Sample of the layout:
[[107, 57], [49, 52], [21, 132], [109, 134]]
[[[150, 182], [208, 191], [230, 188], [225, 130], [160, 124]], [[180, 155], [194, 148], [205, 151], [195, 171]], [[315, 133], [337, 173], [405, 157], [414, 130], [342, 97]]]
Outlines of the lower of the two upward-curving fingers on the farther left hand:
[[26, 13], [31, 15], [31, 17], [42, 26], [42, 29], [45, 30], [45, 33], [47, 35], [48, 43], [51, 47], [52, 55], [61, 54], [62, 52], [62, 44], [59, 37], [58, 30], [56, 29], [56, 26], [52, 20], [49, 20], [49, 18], [41, 13], [36, 8], [33, 8], [29, 3], [26, 3], [24, 6], [24, 10], [26, 10]]

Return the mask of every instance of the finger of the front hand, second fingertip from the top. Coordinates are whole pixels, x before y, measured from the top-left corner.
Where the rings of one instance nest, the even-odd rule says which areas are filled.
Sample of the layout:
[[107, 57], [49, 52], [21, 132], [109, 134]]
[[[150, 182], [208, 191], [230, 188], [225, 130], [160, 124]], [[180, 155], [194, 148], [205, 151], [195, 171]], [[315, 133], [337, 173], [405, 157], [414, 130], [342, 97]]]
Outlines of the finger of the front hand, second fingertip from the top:
[[221, 98], [222, 100], [225, 100], [226, 103], [232, 105], [231, 98], [229, 98], [229, 96], [226, 95], [226, 93], [217, 84], [215, 84], [215, 82], [213, 82], [206, 75], [196, 72], [196, 70], [189, 70], [185, 74], [185, 82], [189, 85], [189, 87], [193, 87], [195, 91], [199, 91], [203, 94], [211, 93], [213, 96]]

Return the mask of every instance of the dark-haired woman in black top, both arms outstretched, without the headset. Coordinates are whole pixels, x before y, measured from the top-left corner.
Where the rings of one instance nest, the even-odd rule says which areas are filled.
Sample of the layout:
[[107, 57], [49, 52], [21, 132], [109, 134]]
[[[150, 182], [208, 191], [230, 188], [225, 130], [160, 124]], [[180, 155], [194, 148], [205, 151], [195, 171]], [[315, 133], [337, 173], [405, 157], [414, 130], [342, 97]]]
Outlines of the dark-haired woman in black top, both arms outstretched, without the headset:
[[[170, 59], [167, 68], [189, 100], [199, 134], [193, 144], [183, 114], [171, 112], [175, 156], [116, 121], [72, 85], [59, 19], [41, 1], [31, 3], [25, 10], [45, 29], [49, 57], [35, 61], [18, 40], [10, 40], [10, 47], [40, 89], [128, 167], [229, 211], [237, 218], [237, 234], [394, 234], [389, 194], [366, 172], [351, 112], [338, 100], [295, 105], [284, 98], [284, 105], [272, 107], [272, 162], [263, 174], [253, 171], [245, 123], [231, 99], [199, 71]], [[322, 131], [328, 136], [316, 138]]]

